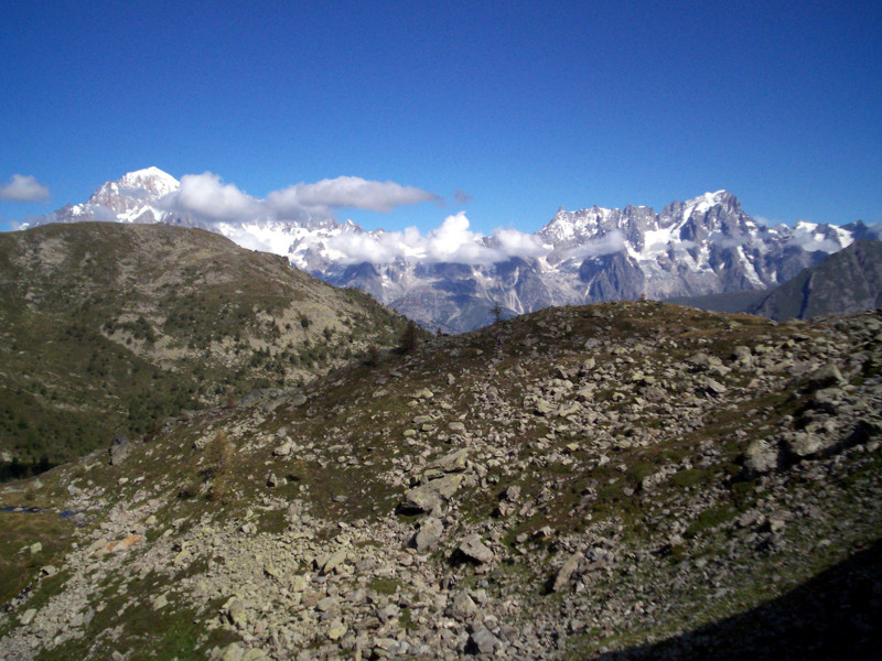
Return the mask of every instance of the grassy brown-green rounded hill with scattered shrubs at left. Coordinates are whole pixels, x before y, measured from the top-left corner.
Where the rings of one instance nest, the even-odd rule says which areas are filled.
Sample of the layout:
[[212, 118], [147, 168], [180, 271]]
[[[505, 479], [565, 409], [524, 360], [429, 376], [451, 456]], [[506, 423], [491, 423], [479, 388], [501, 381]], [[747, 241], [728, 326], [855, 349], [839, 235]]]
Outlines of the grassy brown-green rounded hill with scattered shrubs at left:
[[182, 409], [292, 386], [405, 321], [197, 229], [0, 235], [0, 464], [71, 458]]

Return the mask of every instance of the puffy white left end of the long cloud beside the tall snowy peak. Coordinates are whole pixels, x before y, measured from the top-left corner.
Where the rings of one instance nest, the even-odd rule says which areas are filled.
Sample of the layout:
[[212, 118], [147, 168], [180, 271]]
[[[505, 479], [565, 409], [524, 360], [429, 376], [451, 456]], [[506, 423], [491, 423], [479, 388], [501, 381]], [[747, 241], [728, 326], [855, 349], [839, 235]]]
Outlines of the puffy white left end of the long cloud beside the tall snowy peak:
[[157, 206], [208, 221], [245, 223], [261, 214], [259, 201], [234, 184], [224, 184], [219, 175], [211, 172], [185, 174], [181, 177], [181, 187], [160, 199]]

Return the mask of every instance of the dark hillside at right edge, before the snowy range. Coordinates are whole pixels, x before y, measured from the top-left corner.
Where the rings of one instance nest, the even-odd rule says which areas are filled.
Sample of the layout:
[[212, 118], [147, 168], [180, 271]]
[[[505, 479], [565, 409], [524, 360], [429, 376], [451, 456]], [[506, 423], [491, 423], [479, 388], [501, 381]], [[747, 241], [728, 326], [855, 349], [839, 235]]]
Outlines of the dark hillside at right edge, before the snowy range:
[[882, 306], [882, 241], [858, 240], [749, 308], [773, 319], [856, 314]]

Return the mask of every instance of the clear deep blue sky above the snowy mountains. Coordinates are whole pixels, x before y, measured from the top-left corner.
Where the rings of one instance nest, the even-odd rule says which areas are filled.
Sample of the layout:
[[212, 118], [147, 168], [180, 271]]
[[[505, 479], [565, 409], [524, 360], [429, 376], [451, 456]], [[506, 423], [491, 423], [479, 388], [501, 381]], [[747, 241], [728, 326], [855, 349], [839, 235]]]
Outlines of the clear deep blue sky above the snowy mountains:
[[534, 231], [559, 206], [660, 210], [720, 188], [772, 221], [882, 220], [878, 0], [45, 1], [2, 15], [0, 196], [47, 197], [0, 199], [0, 229], [149, 165], [257, 198], [347, 175], [442, 199], [337, 212], [368, 229], [428, 231], [464, 210], [477, 231]]

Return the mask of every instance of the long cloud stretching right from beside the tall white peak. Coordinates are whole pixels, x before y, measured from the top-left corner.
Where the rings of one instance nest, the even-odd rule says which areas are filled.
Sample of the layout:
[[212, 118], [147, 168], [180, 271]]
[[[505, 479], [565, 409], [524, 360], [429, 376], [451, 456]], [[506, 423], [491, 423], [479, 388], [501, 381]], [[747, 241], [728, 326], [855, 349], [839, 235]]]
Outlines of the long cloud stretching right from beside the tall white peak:
[[212, 172], [186, 174], [181, 186], [157, 203], [163, 210], [189, 214], [207, 223], [250, 223], [280, 219], [333, 220], [342, 208], [388, 213], [396, 207], [440, 202], [434, 193], [395, 182], [338, 176], [314, 184], [300, 183], [272, 191], [266, 199], [251, 197]]

